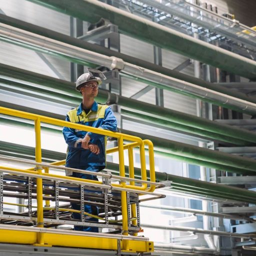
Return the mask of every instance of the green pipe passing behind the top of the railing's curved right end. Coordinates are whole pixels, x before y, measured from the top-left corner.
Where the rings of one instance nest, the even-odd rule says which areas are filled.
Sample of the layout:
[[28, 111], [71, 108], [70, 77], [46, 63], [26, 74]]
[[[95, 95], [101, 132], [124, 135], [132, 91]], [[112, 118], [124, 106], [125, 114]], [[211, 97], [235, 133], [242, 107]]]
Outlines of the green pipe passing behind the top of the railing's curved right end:
[[[121, 132], [131, 134], [134, 136], [141, 137], [143, 139], [150, 139], [154, 148], [157, 151], [157, 148], [161, 149], [163, 153], [169, 153], [172, 155], [178, 155], [178, 157], [188, 157], [195, 160], [203, 162], [211, 162], [221, 164], [226, 167], [226, 170], [230, 167], [240, 168], [243, 172], [255, 172], [256, 171], [256, 160], [251, 158], [232, 155], [229, 153], [218, 152], [215, 150], [206, 149], [203, 147], [188, 145], [181, 142], [176, 142], [173, 140], [167, 140], [164, 138], [144, 135], [138, 132], [131, 132], [129, 130], [121, 129]], [[199, 165], [199, 164], [198, 164]], [[204, 164], [201, 164], [205, 166]]]

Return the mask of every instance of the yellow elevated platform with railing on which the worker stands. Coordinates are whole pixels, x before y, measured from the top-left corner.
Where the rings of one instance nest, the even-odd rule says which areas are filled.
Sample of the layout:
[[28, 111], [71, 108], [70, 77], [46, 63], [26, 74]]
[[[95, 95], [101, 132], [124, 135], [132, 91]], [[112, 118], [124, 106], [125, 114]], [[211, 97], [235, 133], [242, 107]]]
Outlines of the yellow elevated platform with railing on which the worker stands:
[[[36, 161], [0, 156], [1, 161], [7, 163], [7, 166], [0, 166], [0, 251], [8, 247], [4, 243], [29, 244], [25, 250], [22, 245], [13, 246], [14, 251], [22, 247], [24, 253], [47, 252], [54, 246], [86, 248], [81, 251], [83, 255], [137, 255], [153, 251], [153, 242], [137, 235], [142, 231], [140, 200], [164, 197], [154, 192], [155, 188], [164, 185], [155, 182], [153, 145], [149, 140], [2, 107], [0, 112], [34, 120], [36, 141]], [[61, 165], [64, 160], [42, 163], [40, 122], [116, 137], [118, 146], [107, 152], [118, 151], [120, 174], [67, 168]], [[123, 139], [131, 142], [124, 145]], [[148, 146], [150, 176], [145, 169], [144, 145]], [[140, 152], [141, 179], [134, 178], [132, 148], [136, 146]], [[128, 149], [129, 155], [128, 176], [124, 170], [124, 149]], [[65, 176], [65, 170], [96, 175], [99, 181]], [[71, 208], [71, 202], [80, 205], [80, 209]], [[99, 214], [85, 212], [85, 204], [97, 206]], [[15, 205], [17, 210], [9, 212], [5, 205]], [[79, 213], [80, 219], [72, 214], [75, 212]], [[66, 225], [69, 225], [68, 230], [64, 229]], [[103, 229], [99, 233], [74, 231], [70, 229], [71, 225]], [[91, 249], [95, 251], [92, 253]], [[106, 251], [98, 254], [99, 249]], [[62, 255], [73, 255], [71, 250], [70, 254], [68, 251]]]

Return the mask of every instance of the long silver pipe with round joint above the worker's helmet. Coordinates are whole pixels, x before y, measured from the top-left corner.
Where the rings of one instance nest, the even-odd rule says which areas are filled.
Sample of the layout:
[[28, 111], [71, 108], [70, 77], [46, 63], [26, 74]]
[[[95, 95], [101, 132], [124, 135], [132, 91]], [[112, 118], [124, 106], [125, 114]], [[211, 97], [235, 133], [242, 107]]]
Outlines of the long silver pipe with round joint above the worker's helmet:
[[[190, 36], [189, 38], [193, 39]], [[110, 69], [116, 68], [119, 69], [121, 71], [121, 74], [123, 73], [123, 75], [126, 74], [133, 79], [141, 78], [145, 82], [149, 82], [152, 86], [158, 88], [166, 90], [175, 89], [180, 92], [185, 91], [194, 95], [195, 97], [205, 98], [210, 101], [217, 101], [220, 104], [233, 106], [236, 109], [247, 113], [256, 113], [255, 103], [235, 98], [233, 96], [226, 95], [220, 92], [216, 92], [211, 89], [203, 88], [201, 86], [179, 80], [146, 68], [142, 68], [140, 66], [124, 62], [120, 58], [108, 57], [103, 54], [79, 48], [77, 46], [50, 39], [45, 36], [31, 33], [3, 23], [0, 23], [0, 39], [18, 45], [24, 44], [23, 46], [27, 48], [31, 48], [34, 50], [36, 49], [44, 53], [53, 53], [55, 55], [60, 55], [61, 57], [69, 59], [73, 58], [74, 60], [79, 62], [92, 62], [99, 65], [104, 65]], [[202, 42], [200, 41], [200, 43]], [[217, 48], [217, 50], [221, 51], [222, 49]], [[230, 52], [230, 54], [233, 53]], [[235, 56], [237, 57], [237, 59], [243, 58], [237, 54], [235, 54]], [[246, 59], [246, 61], [250, 60]]]

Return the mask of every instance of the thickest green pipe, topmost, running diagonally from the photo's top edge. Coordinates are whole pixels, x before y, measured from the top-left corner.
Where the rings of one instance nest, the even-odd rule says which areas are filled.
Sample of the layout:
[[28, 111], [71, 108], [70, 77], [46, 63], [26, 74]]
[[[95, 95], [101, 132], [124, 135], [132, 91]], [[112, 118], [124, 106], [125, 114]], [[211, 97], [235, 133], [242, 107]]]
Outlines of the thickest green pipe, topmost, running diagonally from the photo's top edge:
[[29, 0], [67, 15], [96, 23], [105, 18], [118, 25], [121, 32], [216, 66], [249, 79], [256, 79], [255, 61], [212, 44], [195, 39], [174, 29], [154, 23], [96, 0]]

